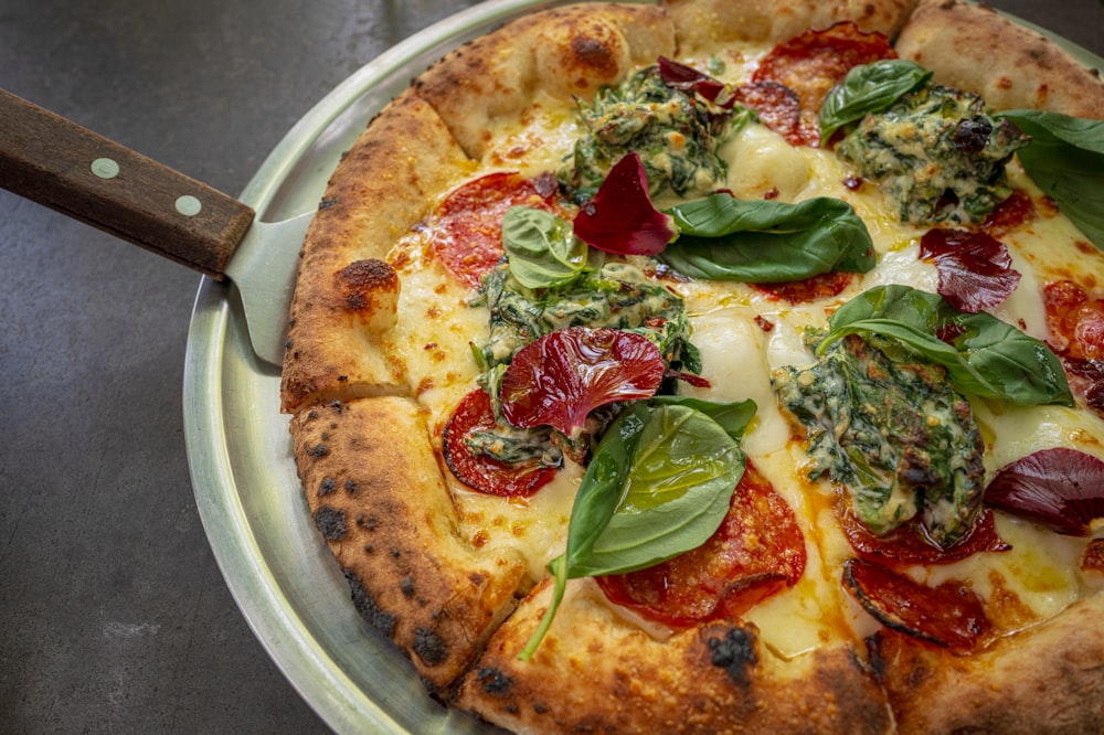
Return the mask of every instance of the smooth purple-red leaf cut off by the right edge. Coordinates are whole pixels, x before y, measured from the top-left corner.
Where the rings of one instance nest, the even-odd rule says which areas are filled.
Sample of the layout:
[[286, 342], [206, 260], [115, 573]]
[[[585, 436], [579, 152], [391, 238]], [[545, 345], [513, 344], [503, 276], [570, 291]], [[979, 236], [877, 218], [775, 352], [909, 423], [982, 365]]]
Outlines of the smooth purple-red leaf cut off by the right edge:
[[1071, 536], [1104, 518], [1104, 461], [1076, 449], [1043, 449], [1006, 465], [985, 489], [987, 505]]

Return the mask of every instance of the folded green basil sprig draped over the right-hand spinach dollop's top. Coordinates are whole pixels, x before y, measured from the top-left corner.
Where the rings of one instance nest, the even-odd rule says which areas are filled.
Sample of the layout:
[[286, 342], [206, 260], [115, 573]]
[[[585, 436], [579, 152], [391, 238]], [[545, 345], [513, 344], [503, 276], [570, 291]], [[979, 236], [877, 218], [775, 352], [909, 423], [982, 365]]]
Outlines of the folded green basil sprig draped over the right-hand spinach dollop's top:
[[847, 334], [881, 334], [946, 368], [965, 394], [1020, 406], [1073, 405], [1062, 363], [1043, 342], [984, 311], [958, 311], [936, 294], [878, 286], [841, 306], [828, 329], [819, 354]]

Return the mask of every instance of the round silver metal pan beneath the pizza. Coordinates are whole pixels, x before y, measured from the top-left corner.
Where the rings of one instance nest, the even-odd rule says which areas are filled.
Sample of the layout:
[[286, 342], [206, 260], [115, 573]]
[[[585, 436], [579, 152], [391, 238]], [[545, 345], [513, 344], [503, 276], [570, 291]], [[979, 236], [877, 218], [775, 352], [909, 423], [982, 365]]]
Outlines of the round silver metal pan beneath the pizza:
[[[560, 2], [490, 0], [369, 63], [276, 147], [241, 200], [279, 221], [311, 211], [368, 120], [447, 51]], [[1040, 29], [1036, 29], [1040, 30]], [[1055, 39], [1091, 66], [1104, 60]], [[337, 732], [476, 733], [425, 695], [413, 668], [357, 614], [296, 476], [279, 374], [252, 353], [232, 287], [199, 287], [184, 365], [184, 435], [195, 502], [238, 607], [299, 694]]]

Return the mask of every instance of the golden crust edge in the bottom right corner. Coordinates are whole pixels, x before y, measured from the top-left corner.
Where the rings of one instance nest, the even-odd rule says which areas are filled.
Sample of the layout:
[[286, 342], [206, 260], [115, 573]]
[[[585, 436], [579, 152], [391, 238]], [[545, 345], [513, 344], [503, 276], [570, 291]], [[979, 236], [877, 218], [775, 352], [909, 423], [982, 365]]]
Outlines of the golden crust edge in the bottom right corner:
[[1104, 729], [1104, 594], [973, 656], [883, 633], [875, 668], [899, 731], [1008, 735]]

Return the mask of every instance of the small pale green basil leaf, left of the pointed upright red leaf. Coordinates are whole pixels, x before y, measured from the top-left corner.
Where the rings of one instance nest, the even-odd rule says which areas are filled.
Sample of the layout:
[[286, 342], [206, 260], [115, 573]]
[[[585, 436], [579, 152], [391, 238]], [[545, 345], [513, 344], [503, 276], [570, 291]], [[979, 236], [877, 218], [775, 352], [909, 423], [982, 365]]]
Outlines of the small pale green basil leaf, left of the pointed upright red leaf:
[[604, 258], [575, 237], [571, 225], [551, 212], [511, 206], [502, 217], [502, 248], [510, 273], [526, 288], [553, 288], [596, 270]]

